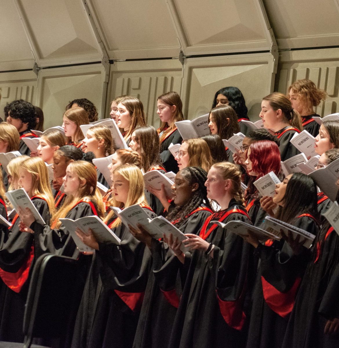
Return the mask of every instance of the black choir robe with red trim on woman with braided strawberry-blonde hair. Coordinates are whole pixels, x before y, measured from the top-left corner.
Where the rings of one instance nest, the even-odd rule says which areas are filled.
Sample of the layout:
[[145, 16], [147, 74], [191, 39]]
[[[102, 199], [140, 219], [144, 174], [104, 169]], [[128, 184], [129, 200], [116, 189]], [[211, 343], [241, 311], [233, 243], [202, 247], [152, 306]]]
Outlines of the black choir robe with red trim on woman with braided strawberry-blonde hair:
[[213, 258], [196, 250], [186, 253], [187, 276], [172, 328], [171, 348], [243, 347], [246, 339], [243, 302], [250, 246], [226, 229], [211, 224], [239, 220], [250, 223], [243, 206], [234, 199], [212, 214], [200, 236], [215, 245]]

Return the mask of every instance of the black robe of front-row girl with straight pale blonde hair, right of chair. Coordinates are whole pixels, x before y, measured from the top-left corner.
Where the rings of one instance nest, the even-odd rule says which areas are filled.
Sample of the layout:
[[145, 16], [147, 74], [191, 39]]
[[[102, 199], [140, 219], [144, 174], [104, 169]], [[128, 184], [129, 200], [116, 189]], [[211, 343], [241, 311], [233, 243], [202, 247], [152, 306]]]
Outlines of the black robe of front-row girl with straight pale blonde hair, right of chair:
[[[155, 214], [144, 208], [150, 218]], [[108, 224], [108, 226], [110, 226]], [[99, 243], [93, 255], [74, 328], [72, 348], [132, 347], [151, 253], [123, 224], [114, 233], [121, 245]]]

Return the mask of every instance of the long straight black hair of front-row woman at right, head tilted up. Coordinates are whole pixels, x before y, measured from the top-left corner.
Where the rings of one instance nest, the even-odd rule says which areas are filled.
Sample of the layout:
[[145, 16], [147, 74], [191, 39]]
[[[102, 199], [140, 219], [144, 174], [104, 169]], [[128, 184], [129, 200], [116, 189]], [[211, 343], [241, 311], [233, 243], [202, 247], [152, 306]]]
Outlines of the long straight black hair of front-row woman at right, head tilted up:
[[319, 220], [317, 185], [308, 175], [294, 173], [286, 185], [283, 200], [284, 206], [277, 213], [278, 219], [291, 223], [300, 214], [308, 213]]

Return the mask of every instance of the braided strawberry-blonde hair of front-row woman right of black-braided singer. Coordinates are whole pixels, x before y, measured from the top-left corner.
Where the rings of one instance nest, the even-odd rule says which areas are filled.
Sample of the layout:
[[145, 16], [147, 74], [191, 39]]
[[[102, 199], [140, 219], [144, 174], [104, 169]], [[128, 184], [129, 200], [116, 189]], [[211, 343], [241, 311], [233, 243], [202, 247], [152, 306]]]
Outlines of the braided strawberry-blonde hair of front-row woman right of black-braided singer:
[[212, 165], [224, 180], [231, 180], [231, 196], [244, 205], [245, 200], [241, 189], [241, 171], [234, 163], [220, 162]]

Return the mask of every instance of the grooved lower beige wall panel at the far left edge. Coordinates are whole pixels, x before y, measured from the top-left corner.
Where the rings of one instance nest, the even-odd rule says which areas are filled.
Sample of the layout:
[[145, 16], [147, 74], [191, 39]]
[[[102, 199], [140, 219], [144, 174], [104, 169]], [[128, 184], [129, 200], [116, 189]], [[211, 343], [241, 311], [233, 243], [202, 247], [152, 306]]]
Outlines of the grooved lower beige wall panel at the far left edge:
[[24, 99], [36, 105], [37, 76], [33, 71], [0, 73], [0, 117], [3, 119], [3, 108], [13, 100]]

